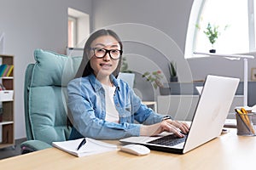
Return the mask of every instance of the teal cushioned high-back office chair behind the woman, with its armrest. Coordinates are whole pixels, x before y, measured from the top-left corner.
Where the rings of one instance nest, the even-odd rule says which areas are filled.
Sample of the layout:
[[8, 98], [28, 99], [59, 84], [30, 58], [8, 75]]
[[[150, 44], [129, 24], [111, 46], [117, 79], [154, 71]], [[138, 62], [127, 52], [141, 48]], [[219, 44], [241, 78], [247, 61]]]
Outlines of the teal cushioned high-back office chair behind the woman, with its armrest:
[[34, 58], [36, 62], [27, 66], [25, 76], [27, 141], [20, 144], [22, 154], [68, 139], [71, 127], [67, 124], [67, 82], [73, 79], [82, 59], [42, 49], [35, 50]]

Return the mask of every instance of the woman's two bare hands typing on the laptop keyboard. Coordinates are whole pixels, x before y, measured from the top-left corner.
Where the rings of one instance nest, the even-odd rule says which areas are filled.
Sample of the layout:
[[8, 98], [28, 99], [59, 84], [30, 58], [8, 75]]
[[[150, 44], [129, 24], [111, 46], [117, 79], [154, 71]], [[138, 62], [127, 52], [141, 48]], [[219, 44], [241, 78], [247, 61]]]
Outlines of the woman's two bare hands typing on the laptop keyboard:
[[183, 138], [183, 133], [189, 132], [189, 125], [185, 122], [177, 122], [167, 119], [153, 125], [143, 125], [140, 134], [142, 136], [154, 136], [164, 131], [174, 133], [177, 137]]

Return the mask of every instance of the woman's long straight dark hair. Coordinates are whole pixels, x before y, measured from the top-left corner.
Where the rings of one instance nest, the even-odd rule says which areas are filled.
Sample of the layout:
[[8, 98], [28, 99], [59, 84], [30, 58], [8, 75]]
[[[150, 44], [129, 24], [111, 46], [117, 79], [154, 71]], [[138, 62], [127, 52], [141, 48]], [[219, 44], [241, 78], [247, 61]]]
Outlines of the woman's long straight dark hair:
[[[88, 56], [88, 54], [90, 54], [90, 44], [97, 37], [102, 37], [102, 36], [111, 36], [111, 37], [113, 37], [114, 39], [116, 39], [119, 42], [120, 48], [121, 48], [121, 50], [123, 50], [123, 44], [122, 44], [119, 36], [114, 31], [106, 30], [106, 29], [95, 31], [94, 33], [92, 33], [90, 35], [88, 40], [85, 42], [83, 59], [82, 59], [81, 64], [79, 66], [79, 70], [77, 72], [76, 78], [78, 78], [78, 77], [87, 77], [91, 73], [93, 73], [93, 70], [90, 66], [90, 56]], [[117, 68], [115, 69], [115, 71], [113, 71], [113, 76], [114, 77], [119, 76], [121, 62], [122, 62], [122, 55], [119, 58], [119, 64], [118, 64]]]

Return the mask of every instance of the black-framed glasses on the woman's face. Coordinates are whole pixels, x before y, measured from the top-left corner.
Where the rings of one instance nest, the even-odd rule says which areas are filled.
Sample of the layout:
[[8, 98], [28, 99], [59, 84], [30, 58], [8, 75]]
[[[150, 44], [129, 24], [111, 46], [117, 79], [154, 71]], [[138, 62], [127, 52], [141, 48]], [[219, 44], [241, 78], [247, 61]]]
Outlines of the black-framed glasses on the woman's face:
[[119, 59], [123, 53], [123, 51], [119, 49], [91, 48], [91, 50], [93, 50], [94, 55], [98, 59], [102, 59], [106, 54], [109, 54], [111, 59]]

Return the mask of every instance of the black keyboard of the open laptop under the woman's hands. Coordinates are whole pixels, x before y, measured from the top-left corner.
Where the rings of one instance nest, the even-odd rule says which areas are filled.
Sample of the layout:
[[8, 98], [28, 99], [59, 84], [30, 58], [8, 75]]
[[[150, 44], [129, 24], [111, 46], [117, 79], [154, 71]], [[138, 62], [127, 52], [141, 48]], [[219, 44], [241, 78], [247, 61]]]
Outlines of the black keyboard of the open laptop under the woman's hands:
[[173, 146], [176, 144], [183, 143], [187, 139], [188, 134], [184, 134], [184, 135], [185, 136], [183, 138], [178, 138], [175, 134], [169, 134], [160, 139], [152, 140], [148, 142], [148, 144], [160, 144], [160, 145], [166, 145], [166, 146]]

